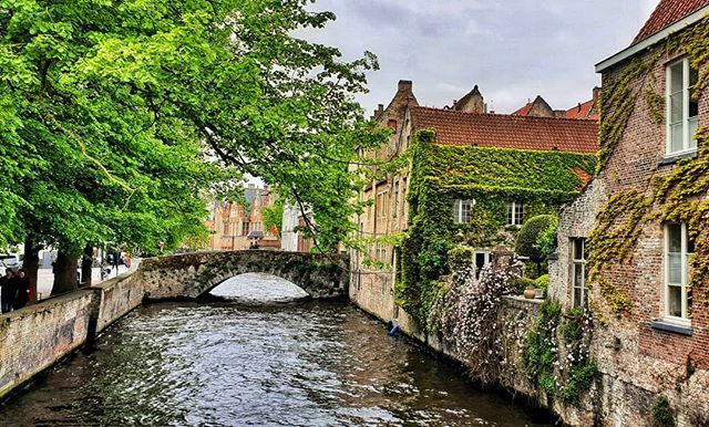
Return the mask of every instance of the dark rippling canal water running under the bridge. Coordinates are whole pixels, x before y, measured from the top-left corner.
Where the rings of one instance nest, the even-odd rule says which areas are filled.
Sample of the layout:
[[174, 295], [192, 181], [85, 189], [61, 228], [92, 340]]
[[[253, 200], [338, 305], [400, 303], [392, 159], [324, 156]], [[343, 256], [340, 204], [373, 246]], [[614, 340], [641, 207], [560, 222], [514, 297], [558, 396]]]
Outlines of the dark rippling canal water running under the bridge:
[[0, 425], [546, 425], [356, 308], [294, 289], [248, 274], [215, 290], [233, 301], [143, 306], [0, 406]]

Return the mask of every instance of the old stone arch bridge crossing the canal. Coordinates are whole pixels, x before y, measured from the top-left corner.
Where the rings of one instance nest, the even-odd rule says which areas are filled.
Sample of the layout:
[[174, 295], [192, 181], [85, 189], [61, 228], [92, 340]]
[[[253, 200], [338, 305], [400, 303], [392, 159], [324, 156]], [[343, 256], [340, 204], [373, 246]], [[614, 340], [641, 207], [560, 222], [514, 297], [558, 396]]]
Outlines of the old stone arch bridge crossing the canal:
[[265, 250], [194, 252], [145, 259], [137, 271], [150, 300], [197, 299], [244, 273], [282, 278], [315, 299], [348, 293], [348, 258], [338, 254]]

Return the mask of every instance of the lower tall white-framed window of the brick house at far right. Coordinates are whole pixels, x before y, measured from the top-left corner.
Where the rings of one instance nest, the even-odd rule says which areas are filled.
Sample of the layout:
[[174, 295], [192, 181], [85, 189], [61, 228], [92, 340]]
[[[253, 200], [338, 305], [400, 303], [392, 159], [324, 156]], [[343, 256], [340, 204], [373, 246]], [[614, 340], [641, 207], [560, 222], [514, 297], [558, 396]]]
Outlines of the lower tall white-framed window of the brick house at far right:
[[665, 226], [665, 315], [689, 322], [689, 258], [695, 244], [686, 223]]

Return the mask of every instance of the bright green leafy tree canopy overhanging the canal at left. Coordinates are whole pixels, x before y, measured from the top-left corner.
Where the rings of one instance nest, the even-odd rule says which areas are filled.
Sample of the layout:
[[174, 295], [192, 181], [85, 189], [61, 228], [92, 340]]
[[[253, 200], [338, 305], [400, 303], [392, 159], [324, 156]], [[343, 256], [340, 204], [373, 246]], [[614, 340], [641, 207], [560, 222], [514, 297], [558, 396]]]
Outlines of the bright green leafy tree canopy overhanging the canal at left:
[[308, 3], [0, 0], [0, 240], [59, 248], [71, 290], [88, 244], [204, 236], [201, 196], [244, 173], [312, 209], [321, 250], [347, 239], [348, 164], [383, 136], [352, 98], [377, 62], [295, 38], [335, 19]]

